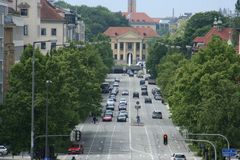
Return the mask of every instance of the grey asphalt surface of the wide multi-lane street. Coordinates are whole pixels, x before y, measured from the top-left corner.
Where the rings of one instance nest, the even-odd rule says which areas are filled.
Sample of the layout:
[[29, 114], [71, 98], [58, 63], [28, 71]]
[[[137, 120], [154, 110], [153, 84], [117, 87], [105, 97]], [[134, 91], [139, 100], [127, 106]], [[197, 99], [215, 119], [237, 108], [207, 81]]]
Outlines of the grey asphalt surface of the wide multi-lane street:
[[[112, 122], [99, 122], [93, 124], [86, 121], [78, 127], [82, 131], [82, 144], [84, 154], [74, 155], [77, 160], [169, 160], [172, 153], [184, 153], [187, 159], [199, 159], [194, 157], [169, 119], [169, 111], [166, 105], [153, 98], [151, 90], [155, 85], [148, 85], [148, 96], [152, 98], [152, 104], [145, 104], [145, 96], [141, 96], [139, 78], [128, 77], [122, 74], [111, 74], [108, 81], [119, 78], [119, 94], [115, 104], [114, 117]], [[128, 89], [129, 96], [124, 96], [128, 100], [127, 122], [117, 122], [117, 106], [122, 97], [121, 92]], [[132, 93], [138, 91], [139, 99], [133, 99]], [[103, 95], [103, 105], [106, 104], [108, 94]], [[140, 102], [141, 109], [139, 115], [143, 125], [136, 125], [137, 111], [136, 101]], [[163, 119], [152, 119], [152, 112], [160, 110]], [[168, 145], [163, 144], [163, 134], [168, 135]], [[69, 160], [73, 155], [59, 156], [60, 159]]]

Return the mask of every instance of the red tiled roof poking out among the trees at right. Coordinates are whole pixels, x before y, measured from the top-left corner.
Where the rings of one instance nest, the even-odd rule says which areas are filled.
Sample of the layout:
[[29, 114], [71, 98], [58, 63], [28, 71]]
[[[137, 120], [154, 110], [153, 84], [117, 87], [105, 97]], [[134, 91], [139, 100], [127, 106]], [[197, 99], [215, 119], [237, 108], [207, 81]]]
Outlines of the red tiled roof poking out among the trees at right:
[[231, 28], [222, 28], [221, 30], [218, 30], [218, 28], [212, 27], [204, 37], [196, 37], [194, 42], [208, 44], [214, 35], [221, 37], [225, 41], [228, 41], [229, 38], [231, 38], [232, 33], [233, 29]]

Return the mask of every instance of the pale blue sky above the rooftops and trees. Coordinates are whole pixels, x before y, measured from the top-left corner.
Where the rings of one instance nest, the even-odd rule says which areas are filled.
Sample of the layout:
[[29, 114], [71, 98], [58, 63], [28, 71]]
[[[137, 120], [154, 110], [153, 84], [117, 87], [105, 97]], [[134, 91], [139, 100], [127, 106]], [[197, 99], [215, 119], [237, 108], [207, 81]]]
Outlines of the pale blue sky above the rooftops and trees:
[[[127, 11], [127, 0], [64, 0], [73, 5], [107, 7], [111, 11]], [[184, 12], [203, 12], [219, 10], [219, 8], [234, 9], [237, 0], [137, 0], [137, 11], [146, 12], [151, 17], [175, 16]]]

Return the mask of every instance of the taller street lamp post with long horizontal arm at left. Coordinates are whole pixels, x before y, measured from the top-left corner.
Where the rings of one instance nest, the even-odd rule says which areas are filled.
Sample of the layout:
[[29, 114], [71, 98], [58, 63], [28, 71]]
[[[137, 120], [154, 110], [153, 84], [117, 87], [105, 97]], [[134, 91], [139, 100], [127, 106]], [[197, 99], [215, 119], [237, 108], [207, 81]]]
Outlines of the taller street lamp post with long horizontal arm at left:
[[32, 105], [31, 105], [31, 160], [33, 160], [34, 153], [34, 107], [35, 107], [35, 44], [42, 42], [56, 42], [56, 40], [36, 41], [33, 42], [33, 55], [32, 55]]

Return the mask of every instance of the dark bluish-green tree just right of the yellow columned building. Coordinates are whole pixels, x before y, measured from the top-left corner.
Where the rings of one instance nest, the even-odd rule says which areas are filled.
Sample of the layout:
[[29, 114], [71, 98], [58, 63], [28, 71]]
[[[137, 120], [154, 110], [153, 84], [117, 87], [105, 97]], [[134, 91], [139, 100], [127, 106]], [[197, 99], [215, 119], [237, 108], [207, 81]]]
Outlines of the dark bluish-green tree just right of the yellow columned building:
[[166, 54], [167, 47], [163, 44], [156, 42], [149, 46], [146, 66], [152, 78], [157, 77], [157, 65]]

